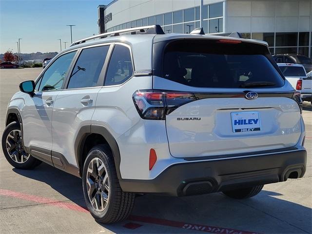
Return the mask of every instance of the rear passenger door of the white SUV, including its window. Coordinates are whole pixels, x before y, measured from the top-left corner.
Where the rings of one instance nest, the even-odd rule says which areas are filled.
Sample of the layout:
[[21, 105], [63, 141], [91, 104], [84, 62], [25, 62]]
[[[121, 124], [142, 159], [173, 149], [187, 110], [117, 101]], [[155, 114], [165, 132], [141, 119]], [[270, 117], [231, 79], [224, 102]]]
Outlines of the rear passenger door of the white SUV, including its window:
[[52, 160], [60, 169], [63, 163], [58, 153], [70, 164], [77, 165], [75, 139], [82, 126], [91, 124], [98, 91], [103, 86], [109, 48], [106, 44], [80, 50], [65, 89], [59, 92], [54, 103]]

